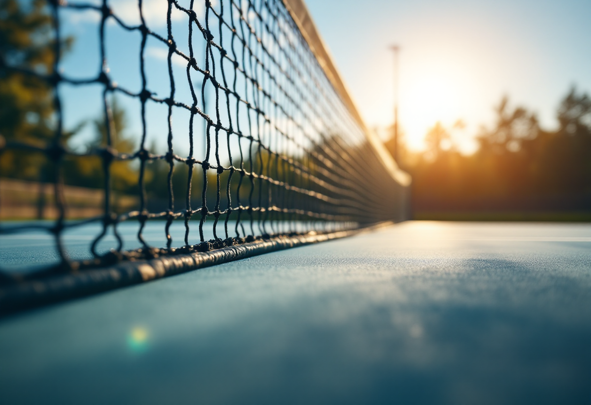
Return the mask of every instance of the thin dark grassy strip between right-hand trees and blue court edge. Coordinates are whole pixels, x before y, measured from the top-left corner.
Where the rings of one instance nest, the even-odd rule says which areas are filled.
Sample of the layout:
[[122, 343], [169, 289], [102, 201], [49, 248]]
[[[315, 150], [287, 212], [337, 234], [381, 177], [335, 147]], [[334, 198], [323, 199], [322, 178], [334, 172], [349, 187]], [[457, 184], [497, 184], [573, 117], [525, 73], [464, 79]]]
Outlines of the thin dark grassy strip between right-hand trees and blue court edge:
[[415, 220], [591, 222], [591, 211], [418, 211]]

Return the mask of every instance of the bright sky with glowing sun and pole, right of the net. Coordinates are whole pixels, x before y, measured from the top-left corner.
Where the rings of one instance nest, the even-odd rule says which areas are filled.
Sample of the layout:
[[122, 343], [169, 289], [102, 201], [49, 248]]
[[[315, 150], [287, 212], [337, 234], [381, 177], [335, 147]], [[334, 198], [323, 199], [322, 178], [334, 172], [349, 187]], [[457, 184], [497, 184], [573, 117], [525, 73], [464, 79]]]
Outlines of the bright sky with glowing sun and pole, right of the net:
[[[465, 129], [460, 150], [475, 148], [493, 107], [536, 112], [544, 128], [572, 85], [591, 92], [590, 0], [308, 0], [307, 6], [366, 123], [393, 121], [393, 55], [400, 50], [399, 120], [419, 150], [436, 121]], [[382, 131], [382, 134], [384, 131]]]

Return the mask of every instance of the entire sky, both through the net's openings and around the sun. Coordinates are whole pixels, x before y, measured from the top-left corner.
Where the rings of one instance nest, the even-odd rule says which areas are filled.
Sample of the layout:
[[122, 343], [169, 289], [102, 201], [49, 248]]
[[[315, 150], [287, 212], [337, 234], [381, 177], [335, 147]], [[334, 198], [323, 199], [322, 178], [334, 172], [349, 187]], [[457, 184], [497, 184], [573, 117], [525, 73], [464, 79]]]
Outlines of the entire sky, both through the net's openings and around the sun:
[[[112, 0], [110, 4], [126, 22], [138, 22], [136, 0]], [[166, 4], [165, 0], [144, 0], [148, 25], [163, 36]], [[492, 126], [493, 107], [504, 95], [511, 105], [536, 112], [541, 125], [552, 129], [560, 99], [571, 86], [591, 92], [591, 0], [308, 0], [307, 5], [361, 115], [383, 138], [393, 120], [389, 46], [401, 47], [400, 126], [413, 150], [424, 147], [424, 135], [437, 121], [452, 127], [461, 119], [466, 125], [453, 131], [454, 142], [463, 152], [472, 152], [476, 147], [473, 137], [480, 126]], [[98, 13], [60, 12], [66, 21], [64, 34], [76, 37], [72, 52], [64, 58], [64, 72], [75, 78], [96, 76], [100, 66]], [[176, 37], [187, 36], [184, 18], [173, 14]], [[141, 88], [139, 39], [137, 31], [128, 33], [109, 25], [110, 74], [131, 91]], [[166, 55], [162, 44], [148, 40], [148, 81], [158, 97], [169, 91]], [[179, 77], [186, 75], [184, 66], [183, 60], [176, 60]], [[179, 86], [176, 97], [190, 104], [186, 87]], [[100, 90], [99, 85], [63, 86], [67, 127], [99, 117]], [[122, 98], [121, 102], [129, 113], [130, 126], [140, 127], [137, 100]], [[165, 117], [166, 107], [152, 104], [150, 108], [148, 120], [153, 120], [148, 145], [155, 143], [162, 149], [167, 124], [156, 117]], [[174, 120], [175, 134], [187, 132], [186, 118]], [[93, 128], [87, 125], [76, 139], [83, 145], [92, 136]], [[186, 149], [186, 136], [176, 137], [175, 142]]]

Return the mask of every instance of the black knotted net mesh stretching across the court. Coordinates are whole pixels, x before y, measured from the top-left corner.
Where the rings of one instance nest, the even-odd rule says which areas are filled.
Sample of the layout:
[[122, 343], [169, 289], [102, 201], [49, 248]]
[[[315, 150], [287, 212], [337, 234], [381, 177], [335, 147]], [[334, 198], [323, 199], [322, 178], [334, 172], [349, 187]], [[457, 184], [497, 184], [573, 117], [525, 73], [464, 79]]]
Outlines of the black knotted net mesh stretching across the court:
[[[356, 229], [400, 217], [400, 184], [388, 173], [364, 127], [342, 101], [283, 2], [206, 0], [197, 12], [193, 0], [186, 4], [162, 1], [168, 8], [162, 16], [166, 26], [161, 33], [151, 30], [146, 22], [147, 6], [142, 0], [137, 3], [141, 23], [134, 26], [118, 17], [106, 0], [102, 4], [48, 5], [56, 55], [63, 46], [60, 19], [64, 9], [95, 13], [99, 73], [87, 79], [69, 78], [60, 73], [60, 57], [49, 73], [7, 67], [41, 78], [54, 90], [53, 138], [45, 144], [7, 140], [2, 151], [40, 153], [51, 162], [48, 178], [58, 214], [53, 223], [4, 223], [0, 234], [46, 230], [53, 235], [60, 257], [59, 266], [52, 271], [72, 271], [84, 263], [69, 259], [61, 236], [67, 229], [89, 223], [99, 223], [100, 232], [91, 242], [95, 259], [87, 262], [100, 265], [130, 255], [196, 252], [279, 235]], [[109, 24], [135, 31], [141, 38], [139, 49], [128, 50], [139, 59], [139, 91], [126, 88], [126, 83], [115, 84], [110, 77]], [[173, 35], [177, 24], [188, 27], [188, 36]], [[145, 72], [148, 41], [167, 49], [168, 93], [164, 95], [151, 91]], [[178, 60], [186, 65], [184, 75], [174, 73]], [[67, 146], [60, 95], [64, 85], [101, 86], [106, 128], [103, 144], [85, 152]], [[181, 87], [190, 89], [189, 102], [177, 98]], [[138, 101], [141, 139], [134, 152], [118, 152], [113, 146], [112, 94]], [[166, 138], [164, 150], [152, 150], [147, 144], [150, 104], [167, 108], [167, 114], [156, 118], [167, 123], [167, 133], [159, 135]], [[178, 130], [173, 131], [173, 120], [184, 123], [187, 156], [178, 155], [174, 147]], [[203, 144], [203, 148], [196, 147]], [[63, 197], [64, 162], [91, 157], [102, 162], [103, 214], [70, 220]], [[116, 162], [135, 165], [137, 209], [117, 212], [112, 207], [111, 168]], [[166, 187], [154, 190], [153, 176], [146, 173], [156, 162], [165, 165], [167, 178]], [[180, 192], [178, 186], [174, 189], [175, 176], [183, 176]], [[178, 198], [180, 193], [184, 198]], [[164, 207], [151, 204], [148, 194], [164, 200]], [[139, 223], [140, 248], [133, 252], [123, 250], [118, 232], [118, 226], [128, 221]], [[151, 246], [144, 239], [144, 227], [152, 221], [160, 224], [165, 246]], [[177, 222], [184, 223], [184, 238], [171, 237], [171, 224]], [[98, 249], [106, 234], [115, 236], [108, 254]], [[210, 234], [213, 239], [207, 236]]]

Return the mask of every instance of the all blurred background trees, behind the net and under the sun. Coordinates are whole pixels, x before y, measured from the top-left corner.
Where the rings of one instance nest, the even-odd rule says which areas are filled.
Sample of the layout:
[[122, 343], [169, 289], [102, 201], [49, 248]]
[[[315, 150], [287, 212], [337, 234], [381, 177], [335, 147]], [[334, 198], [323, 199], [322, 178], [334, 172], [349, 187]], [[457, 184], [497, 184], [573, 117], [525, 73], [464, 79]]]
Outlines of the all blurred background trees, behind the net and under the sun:
[[[55, 59], [53, 41], [51, 18], [44, 0], [0, 0], [0, 134], [7, 142], [44, 146], [53, 139], [56, 117], [50, 83], [19, 69], [7, 68], [19, 66], [51, 75]], [[63, 51], [67, 52], [72, 43], [72, 37], [65, 38]], [[121, 153], [134, 153], [138, 148], [137, 133], [129, 128], [126, 112], [118, 99], [109, 96], [108, 102], [115, 127], [113, 148]], [[576, 88], [567, 92], [557, 109], [556, 130], [541, 128], [531, 110], [511, 107], [506, 97], [495, 108], [495, 115], [493, 126], [483, 127], [476, 134], [478, 149], [472, 155], [463, 155], [453, 144], [454, 131], [463, 128], [462, 121], [451, 127], [434, 123], [426, 134], [426, 149], [422, 152], [410, 152], [401, 147], [400, 166], [413, 176], [415, 216], [444, 218], [442, 213], [542, 211], [591, 213], [589, 95]], [[61, 136], [63, 146], [72, 146], [72, 139], [85, 125], [94, 129], [87, 149], [105, 146], [105, 121], [102, 112], [97, 111], [95, 119], [82, 122]], [[77, 144], [79, 146], [80, 142]], [[393, 150], [392, 142], [387, 142], [387, 146]], [[151, 147], [151, 152], [156, 152], [155, 147]], [[255, 172], [270, 170], [277, 171], [275, 175], [280, 178], [285, 175], [279, 173], [282, 166], [277, 163], [273, 166], [268, 157], [253, 163]], [[41, 153], [8, 149], [0, 156], [0, 176], [19, 181], [51, 182], [50, 164]], [[245, 159], [245, 168], [251, 170], [250, 166]], [[113, 191], [119, 195], [138, 195], [138, 167], [137, 160], [113, 162]], [[152, 211], [168, 209], [168, 170], [168, 163], [163, 159], [146, 166], [148, 208]], [[193, 170], [190, 197], [191, 206], [196, 208], [201, 205], [203, 172], [199, 167]], [[97, 156], [67, 156], [63, 173], [67, 185], [103, 188], [102, 162]], [[173, 194], [177, 210], [186, 205], [188, 175], [187, 165], [175, 164]], [[228, 172], [220, 176], [222, 209], [228, 176]], [[239, 174], [234, 176], [232, 188], [237, 187]], [[208, 183], [213, 186], [208, 187], [208, 206], [217, 200], [216, 182], [215, 173], [208, 172]], [[252, 193], [258, 197], [258, 190], [253, 188]], [[241, 198], [247, 199], [250, 194], [249, 181], [245, 180]]]

